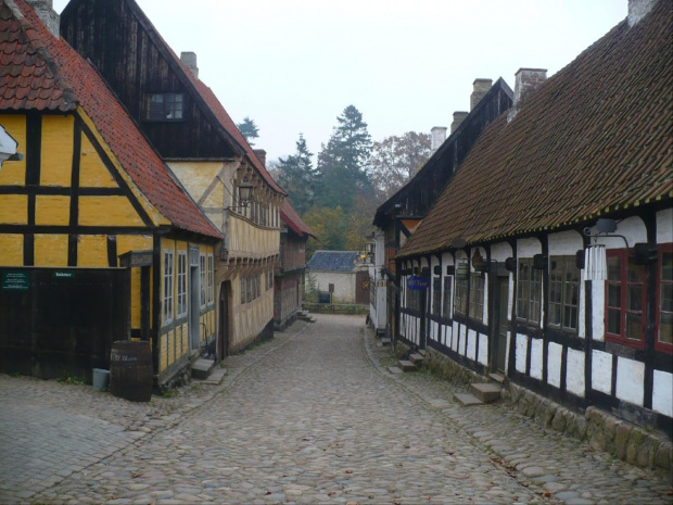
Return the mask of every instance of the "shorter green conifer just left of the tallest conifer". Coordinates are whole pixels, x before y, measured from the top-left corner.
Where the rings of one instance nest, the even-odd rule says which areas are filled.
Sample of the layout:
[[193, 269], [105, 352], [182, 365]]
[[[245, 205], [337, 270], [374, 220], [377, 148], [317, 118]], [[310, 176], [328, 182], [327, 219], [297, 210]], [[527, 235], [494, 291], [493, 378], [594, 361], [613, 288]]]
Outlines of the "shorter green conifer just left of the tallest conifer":
[[319, 174], [313, 166], [312, 156], [306, 139], [300, 134], [295, 154], [278, 161], [278, 181], [288, 191], [288, 199], [300, 215], [315, 203]]

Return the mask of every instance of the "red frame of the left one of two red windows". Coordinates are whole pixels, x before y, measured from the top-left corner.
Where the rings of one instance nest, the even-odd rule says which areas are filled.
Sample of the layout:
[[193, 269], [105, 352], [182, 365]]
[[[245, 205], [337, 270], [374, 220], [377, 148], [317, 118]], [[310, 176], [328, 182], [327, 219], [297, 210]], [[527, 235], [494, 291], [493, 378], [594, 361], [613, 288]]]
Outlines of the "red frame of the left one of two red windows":
[[[631, 258], [631, 251], [627, 249], [618, 249], [618, 250], [609, 250], [606, 253], [607, 257], [619, 257], [619, 280], [606, 280], [606, 290], [605, 290], [605, 314], [604, 314], [604, 324], [605, 324], [605, 334], [606, 340], [608, 342], [614, 342], [622, 345], [626, 345], [628, 348], [635, 349], [645, 349], [645, 327], [647, 324], [647, 277], [646, 273], [643, 276], [643, 282], [633, 282], [628, 280], [628, 260]], [[644, 265], [637, 265], [638, 267], [645, 269]], [[642, 295], [640, 295], [640, 311], [633, 311], [628, 308], [628, 287], [642, 285]], [[609, 287], [610, 286], [620, 286], [620, 306], [611, 307], [608, 305], [609, 299]], [[609, 308], [619, 308], [620, 311], [620, 333], [610, 333], [608, 331], [608, 314]], [[630, 339], [626, 338], [626, 325], [627, 325], [627, 314], [639, 314], [640, 315], [640, 338], [639, 339]]]

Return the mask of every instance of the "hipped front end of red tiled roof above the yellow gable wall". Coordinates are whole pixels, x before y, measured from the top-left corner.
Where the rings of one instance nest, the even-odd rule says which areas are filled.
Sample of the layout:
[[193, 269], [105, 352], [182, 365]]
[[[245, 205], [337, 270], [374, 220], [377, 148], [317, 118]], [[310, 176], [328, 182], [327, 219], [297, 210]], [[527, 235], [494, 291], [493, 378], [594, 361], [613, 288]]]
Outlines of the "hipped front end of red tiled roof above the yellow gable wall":
[[21, 12], [0, 8], [0, 110], [72, 111], [75, 93], [59, 76], [36, 30], [22, 23]]

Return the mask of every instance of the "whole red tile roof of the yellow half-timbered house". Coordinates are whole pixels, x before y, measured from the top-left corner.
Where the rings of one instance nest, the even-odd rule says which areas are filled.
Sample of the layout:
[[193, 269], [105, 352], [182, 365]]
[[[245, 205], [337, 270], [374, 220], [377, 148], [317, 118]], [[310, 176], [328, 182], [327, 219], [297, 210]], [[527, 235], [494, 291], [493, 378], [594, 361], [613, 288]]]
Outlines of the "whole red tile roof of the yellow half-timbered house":
[[[169, 168], [150, 147], [138, 127], [107, 88], [98, 72], [67, 42], [54, 38], [25, 0], [2, 0], [0, 54], [12, 59], [4, 74], [8, 86], [22, 89], [25, 98], [0, 98], [0, 110], [73, 110], [78, 103], [91, 118], [123, 168], [140, 191], [175, 227], [221, 238], [196, 204], [174, 180]], [[20, 12], [11, 8], [12, 3]], [[23, 17], [23, 18], [22, 18]], [[17, 68], [25, 65], [25, 72]], [[47, 77], [45, 77], [47, 76]], [[34, 88], [42, 88], [30, 99]], [[17, 93], [18, 94], [18, 93]], [[51, 97], [51, 98], [50, 98]]]

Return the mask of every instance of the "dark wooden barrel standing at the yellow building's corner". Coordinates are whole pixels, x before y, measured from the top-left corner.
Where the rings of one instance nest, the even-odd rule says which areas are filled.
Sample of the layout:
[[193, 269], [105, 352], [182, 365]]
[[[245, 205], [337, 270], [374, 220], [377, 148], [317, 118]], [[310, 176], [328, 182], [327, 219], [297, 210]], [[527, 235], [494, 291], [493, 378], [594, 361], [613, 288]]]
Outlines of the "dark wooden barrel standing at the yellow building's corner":
[[110, 352], [110, 392], [131, 402], [149, 402], [152, 399], [152, 381], [150, 342], [113, 342]]

